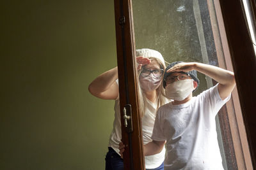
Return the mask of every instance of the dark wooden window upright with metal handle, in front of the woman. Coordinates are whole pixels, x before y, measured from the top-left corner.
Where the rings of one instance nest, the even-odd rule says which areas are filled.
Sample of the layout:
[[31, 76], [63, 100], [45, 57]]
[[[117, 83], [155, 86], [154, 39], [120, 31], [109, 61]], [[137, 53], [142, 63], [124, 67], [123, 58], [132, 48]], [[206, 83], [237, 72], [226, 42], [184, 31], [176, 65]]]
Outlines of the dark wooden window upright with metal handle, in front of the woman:
[[[137, 69], [131, 0], [115, 0], [116, 52], [122, 124], [122, 141], [126, 145], [124, 169], [145, 169], [141, 120], [138, 110]], [[126, 132], [123, 108], [131, 104], [132, 132]]]

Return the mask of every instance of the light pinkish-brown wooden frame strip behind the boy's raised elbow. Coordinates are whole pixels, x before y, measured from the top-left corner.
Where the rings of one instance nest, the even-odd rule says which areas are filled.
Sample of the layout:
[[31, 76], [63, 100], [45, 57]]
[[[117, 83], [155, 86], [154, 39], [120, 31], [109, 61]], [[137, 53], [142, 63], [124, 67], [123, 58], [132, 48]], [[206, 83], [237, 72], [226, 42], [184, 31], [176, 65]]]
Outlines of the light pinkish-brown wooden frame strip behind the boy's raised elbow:
[[[207, 4], [208, 6], [214, 6], [214, 9], [209, 8], [209, 11], [211, 21], [213, 20], [213, 22], [215, 22], [215, 24], [212, 23], [211, 25], [219, 66], [223, 69], [234, 71], [220, 1], [207, 0]], [[214, 13], [211, 13], [211, 11], [214, 11]], [[224, 150], [225, 153], [227, 153], [225, 156], [228, 169], [252, 169], [250, 150], [236, 87], [232, 92], [232, 98], [220, 110], [218, 117], [220, 120], [221, 134], [223, 136]]]

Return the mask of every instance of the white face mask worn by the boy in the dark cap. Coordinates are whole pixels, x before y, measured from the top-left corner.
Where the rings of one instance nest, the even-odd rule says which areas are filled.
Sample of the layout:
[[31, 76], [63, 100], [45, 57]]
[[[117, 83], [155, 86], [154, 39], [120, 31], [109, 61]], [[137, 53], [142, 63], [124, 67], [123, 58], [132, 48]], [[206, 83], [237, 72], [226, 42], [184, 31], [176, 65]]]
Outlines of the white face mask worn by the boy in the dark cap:
[[165, 95], [175, 101], [183, 101], [194, 90], [192, 79], [175, 81], [165, 87]]

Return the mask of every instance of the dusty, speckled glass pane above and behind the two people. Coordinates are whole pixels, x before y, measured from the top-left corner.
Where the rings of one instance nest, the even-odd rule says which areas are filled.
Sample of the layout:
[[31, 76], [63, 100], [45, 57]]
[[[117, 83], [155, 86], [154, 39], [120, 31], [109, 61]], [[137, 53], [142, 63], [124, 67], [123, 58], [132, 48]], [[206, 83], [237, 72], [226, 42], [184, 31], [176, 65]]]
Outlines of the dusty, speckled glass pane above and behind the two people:
[[[157, 50], [166, 62], [182, 60], [219, 66], [217, 53], [223, 56], [224, 52], [213, 1], [133, 0], [132, 8], [136, 49]], [[213, 86], [211, 78], [204, 74], [198, 73], [198, 78], [200, 86], [194, 96]], [[228, 169], [225, 154], [230, 153], [225, 153], [218, 117], [216, 131], [223, 167]]]

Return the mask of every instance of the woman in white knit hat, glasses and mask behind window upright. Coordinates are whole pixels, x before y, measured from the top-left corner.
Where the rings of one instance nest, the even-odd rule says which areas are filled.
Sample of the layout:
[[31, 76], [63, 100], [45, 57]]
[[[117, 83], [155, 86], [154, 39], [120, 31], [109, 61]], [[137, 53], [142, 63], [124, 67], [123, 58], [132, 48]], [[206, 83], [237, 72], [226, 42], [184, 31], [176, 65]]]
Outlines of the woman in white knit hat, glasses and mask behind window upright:
[[[136, 50], [139, 75], [139, 106], [142, 118], [143, 143], [147, 144], [152, 139], [156, 111], [159, 106], [167, 103], [167, 99], [161, 94], [164, 59], [156, 50], [143, 48]], [[113, 131], [109, 138], [109, 152], [106, 155], [106, 170], [124, 169], [123, 160], [120, 157], [118, 145], [121, 143], [121, 123], [118, 91], [117, 67], [100, 74], [89, 85], [89, 91], [100, 99], [115, 100], [115, 120]], [[162, 89], [163, 90], [163, 89]], [[165, 149], [161, 153], [145, 157], [146, 169], [163, 170]]]

